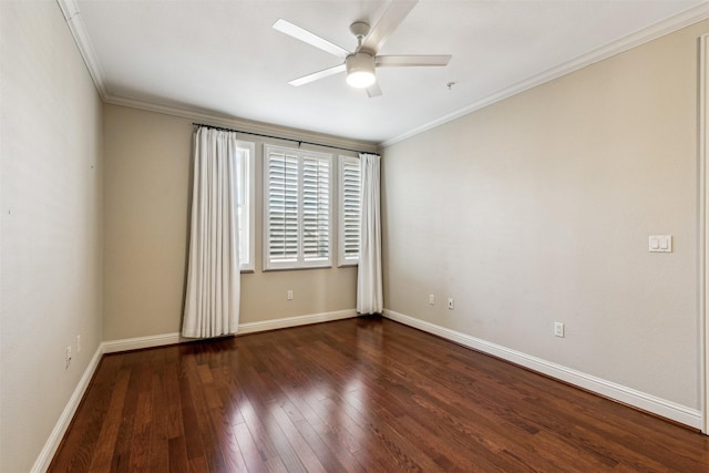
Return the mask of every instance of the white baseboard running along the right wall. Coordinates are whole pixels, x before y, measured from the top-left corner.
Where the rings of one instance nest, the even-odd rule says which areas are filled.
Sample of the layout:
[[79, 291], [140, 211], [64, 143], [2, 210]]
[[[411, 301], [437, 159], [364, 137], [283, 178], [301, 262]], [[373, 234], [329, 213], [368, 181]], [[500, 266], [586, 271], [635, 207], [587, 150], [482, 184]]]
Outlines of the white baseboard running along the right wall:
[[612, 381], [596, 378], [561, 364], [552, 363], [541, 358], [511, 350], [500, 345], [491, 343], [435, 323], [404, 316], [403, 313], [394, 312], [393, 310], [384, 309], [383, 316], [419, 330], [436, 335], [446, 340], [454, 341], [464, 347], [502, 358], [503, 360], [511, 361], [515, 364], [520, 364], [552, 378], [587, 389], [588, 391], [615, 399], [616, 401], [636, 407], [644, 411], [671, 419], [695, 429], [701, 429], [701, 412], [696, 409], [690, 409]]

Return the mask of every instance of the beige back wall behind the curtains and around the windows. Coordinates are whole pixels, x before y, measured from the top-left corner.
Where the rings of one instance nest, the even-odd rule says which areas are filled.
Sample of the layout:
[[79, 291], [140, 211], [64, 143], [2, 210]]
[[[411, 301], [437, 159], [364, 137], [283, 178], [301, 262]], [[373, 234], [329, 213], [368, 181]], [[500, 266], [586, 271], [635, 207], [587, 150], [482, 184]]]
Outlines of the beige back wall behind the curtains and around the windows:
[[[182, 328], [192, 123], [155, 112], [104, 106], [104, 340], [174, 333]], [[280, 133], [274, 128], [273, 134]], [[256, 143], [257, 157], [256, 270], [242, 275], [240, 322], [354, 309], [356, 268], [261, 270], [264, 142], [249, 135], [239, 138]], [[289, 289], [291, 301], [286, 299]]]

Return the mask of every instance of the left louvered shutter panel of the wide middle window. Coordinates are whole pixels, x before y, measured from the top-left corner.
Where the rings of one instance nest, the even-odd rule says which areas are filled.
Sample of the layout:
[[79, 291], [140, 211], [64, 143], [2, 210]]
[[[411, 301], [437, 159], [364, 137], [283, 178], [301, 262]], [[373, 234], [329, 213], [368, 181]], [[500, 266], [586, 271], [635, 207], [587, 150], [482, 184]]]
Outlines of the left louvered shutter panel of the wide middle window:
[[269, 150], [267, 172], [267, 266], [289, 266], [298, 260], [298, 156]]

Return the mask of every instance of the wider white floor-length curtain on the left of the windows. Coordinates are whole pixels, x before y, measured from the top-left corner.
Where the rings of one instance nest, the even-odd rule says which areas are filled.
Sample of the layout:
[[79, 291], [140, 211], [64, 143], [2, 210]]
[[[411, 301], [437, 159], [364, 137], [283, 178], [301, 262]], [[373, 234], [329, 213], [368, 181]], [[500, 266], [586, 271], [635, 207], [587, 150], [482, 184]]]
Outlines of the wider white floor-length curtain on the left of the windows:
[[236, 133], [207, 127], [195, 133], [184, 337], [219, 337], [238, 330], [240, 158]]

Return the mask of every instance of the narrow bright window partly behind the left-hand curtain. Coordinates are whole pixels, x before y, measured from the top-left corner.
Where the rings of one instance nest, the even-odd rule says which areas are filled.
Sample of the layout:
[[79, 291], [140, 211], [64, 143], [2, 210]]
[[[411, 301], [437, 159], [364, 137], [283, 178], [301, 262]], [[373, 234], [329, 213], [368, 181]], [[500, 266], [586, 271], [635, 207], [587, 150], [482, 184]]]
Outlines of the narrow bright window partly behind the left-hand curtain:
[[250, 142], [236, 142], [237, 205], [239, 218], [239, 267], [254, 270], [254, 155]]

